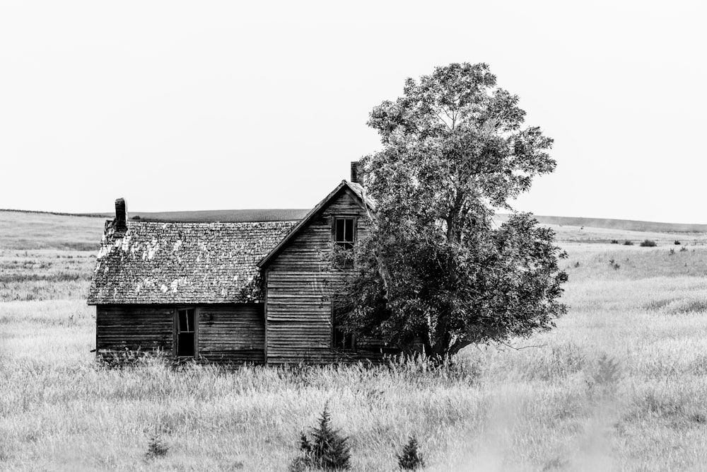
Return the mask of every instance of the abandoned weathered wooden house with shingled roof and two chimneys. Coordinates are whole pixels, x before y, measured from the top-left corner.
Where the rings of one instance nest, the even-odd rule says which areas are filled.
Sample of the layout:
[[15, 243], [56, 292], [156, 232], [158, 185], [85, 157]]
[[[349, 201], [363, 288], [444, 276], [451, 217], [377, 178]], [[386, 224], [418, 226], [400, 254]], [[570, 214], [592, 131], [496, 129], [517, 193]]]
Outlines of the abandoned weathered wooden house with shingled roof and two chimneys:
[[350, 269], [332, 268], [327, 255], [351, 250], [373, 209], [354, 163], [351, 174], [304, 215], [149, 221], [129, 219], [117, 200], [88, 295], [98, 355], [160, 350], [233, 364], [380, 358], [380, 343], [355, 339], [334, 316], [337, 281]]

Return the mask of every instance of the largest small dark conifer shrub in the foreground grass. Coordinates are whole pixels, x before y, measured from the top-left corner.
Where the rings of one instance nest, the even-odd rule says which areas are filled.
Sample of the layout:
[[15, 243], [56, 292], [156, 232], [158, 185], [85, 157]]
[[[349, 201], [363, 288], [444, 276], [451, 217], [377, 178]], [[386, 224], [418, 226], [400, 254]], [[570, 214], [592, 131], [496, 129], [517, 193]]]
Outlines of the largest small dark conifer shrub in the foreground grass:
[[332, 428], [327, 402], [319, 418], [319, 426], [312, 430], [311, 441], [305, 433], [300, 434], [300, 451], [303, 452], [303, 456], [292, 462], [290, 471], [303, 471], [308, 467], [325, 471], [350, 468], [351, 451], [348, 441], [348, 437], [341, 436]]

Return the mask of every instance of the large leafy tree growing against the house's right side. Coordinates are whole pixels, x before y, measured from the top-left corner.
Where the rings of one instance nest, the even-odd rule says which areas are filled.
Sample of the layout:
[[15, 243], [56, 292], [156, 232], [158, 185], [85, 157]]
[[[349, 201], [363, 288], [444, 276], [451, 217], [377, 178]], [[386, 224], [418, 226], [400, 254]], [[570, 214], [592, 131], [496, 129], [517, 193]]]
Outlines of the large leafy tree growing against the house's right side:
[[[486, 64], [468, 63], [407, 79], [373, 109], [382, 150], [361, 159], [373, 231], [337, 308], [352, 330], [444, 357], [554, 326], [563, 253], [510, 206], [555, 168], [552, 139], [524, 117]], [[510, 217], [498, 224], [495, 209]]]

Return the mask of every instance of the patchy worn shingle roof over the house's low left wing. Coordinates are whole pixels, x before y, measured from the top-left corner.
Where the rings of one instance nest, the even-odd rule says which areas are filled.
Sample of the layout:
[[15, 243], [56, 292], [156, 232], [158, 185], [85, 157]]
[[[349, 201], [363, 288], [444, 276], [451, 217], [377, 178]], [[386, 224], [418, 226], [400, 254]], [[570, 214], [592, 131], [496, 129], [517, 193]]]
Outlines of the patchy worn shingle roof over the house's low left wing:
[[257, 262], [297, 221], [106, 224], [88, 304], [262, 300]]

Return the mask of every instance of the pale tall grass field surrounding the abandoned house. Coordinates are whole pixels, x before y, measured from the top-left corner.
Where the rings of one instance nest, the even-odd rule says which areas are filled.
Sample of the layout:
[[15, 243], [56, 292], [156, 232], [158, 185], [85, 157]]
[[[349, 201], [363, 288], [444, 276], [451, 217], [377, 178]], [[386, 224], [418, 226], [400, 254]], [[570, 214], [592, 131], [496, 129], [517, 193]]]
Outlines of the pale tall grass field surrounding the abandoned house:
[[[395, 470], [409, 434], [428, 471], [707, 468], [704, 234], [555, 226], [569, 313], [520, 349], [469, 348], [450, 369], [175, 371], [95, 364], [94, 254], [72, 244], [84, 229], [98, 241], [100, 221], [98, 236], [65, 222], [76, 240], [64, 246], [1, 230], [1, 470], [284, 471], [326, 401], [356, 471]], [[164, 457], [146, 459], [151, 437]]]

